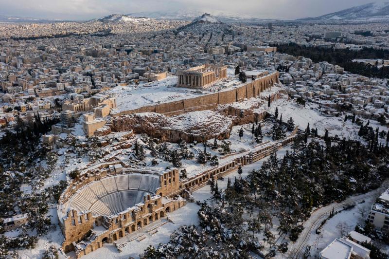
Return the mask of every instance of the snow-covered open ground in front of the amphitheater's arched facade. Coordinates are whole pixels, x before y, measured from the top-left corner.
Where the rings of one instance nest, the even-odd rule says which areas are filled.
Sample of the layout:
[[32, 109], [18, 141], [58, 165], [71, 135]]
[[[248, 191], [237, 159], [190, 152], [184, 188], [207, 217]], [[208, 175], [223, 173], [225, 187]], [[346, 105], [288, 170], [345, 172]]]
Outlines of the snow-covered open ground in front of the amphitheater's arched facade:
[[135, 237], [140, 236], [141, 234], [145, 235], [145, 239], [138, 241], [132, 240], [128, 242], [123, 247], [123, 252], [120, 253], [113, 244], [104, 244], [104, 247], [99, 248], [97, 251], [89, 253], [86, 256], [83, 256], [83, 259], [106, 259], [106, 258], [125, 258], [128, 257], [139, 258], [139, 255], [143, 253], [149, 245], [158, 246], [159, 243], [167, 243], [170, 240], [170, 235], [175, 231], [179, 226], [182, 225], [198, 225], [197, 211], [200, 207], [195, 203], [187, 203], [185, 206], [180, 209], [167, 213], [167, 217], [172, 220], [174, 223], [168, 222], [162, 226], [158, 227], [158, 232], [154, 235], [147, 233], [148, 229], [151, 229], [155, 226], [158, 226], [166, 220], [160, 220], [151, 223], [147, 227], [141, 229], [140, 231], [135, 232], [134, 234], [129, 234], [123, 239], [118, 240], [118, 243], [124, 243], [125, 240], [131, 240]]

